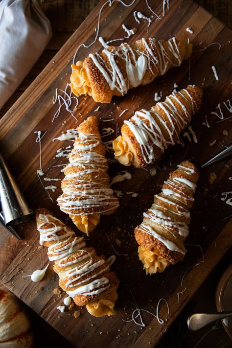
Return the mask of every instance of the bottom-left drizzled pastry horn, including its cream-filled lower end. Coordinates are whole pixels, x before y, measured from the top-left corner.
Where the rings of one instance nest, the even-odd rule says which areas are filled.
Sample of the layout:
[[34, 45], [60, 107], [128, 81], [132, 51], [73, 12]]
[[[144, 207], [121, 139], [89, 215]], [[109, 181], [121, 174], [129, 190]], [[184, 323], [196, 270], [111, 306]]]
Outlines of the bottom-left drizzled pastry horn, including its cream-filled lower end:
[[86, 247], [83, 237], [55, 218], [48, 210], [36, 211], [40, 244], [48, 247], [48, 258], [59, 275], [59, 285], [78, 306], [88, 305], [97, 317], [114, 314], [118, 279], [104, 256]]

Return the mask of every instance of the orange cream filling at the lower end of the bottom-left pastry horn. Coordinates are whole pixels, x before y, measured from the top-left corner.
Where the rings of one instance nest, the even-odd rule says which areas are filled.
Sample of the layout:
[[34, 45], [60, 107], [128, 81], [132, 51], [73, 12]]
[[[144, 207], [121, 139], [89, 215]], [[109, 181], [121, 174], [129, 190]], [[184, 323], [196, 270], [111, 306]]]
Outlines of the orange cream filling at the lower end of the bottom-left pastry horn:
[[116, 290], [102, 295], [98, 300], [90, 302], [86, 305], [88, 312], [94, 317], [102, 317], [103, 315], [115, 314], [114, 306], [117, 300]]

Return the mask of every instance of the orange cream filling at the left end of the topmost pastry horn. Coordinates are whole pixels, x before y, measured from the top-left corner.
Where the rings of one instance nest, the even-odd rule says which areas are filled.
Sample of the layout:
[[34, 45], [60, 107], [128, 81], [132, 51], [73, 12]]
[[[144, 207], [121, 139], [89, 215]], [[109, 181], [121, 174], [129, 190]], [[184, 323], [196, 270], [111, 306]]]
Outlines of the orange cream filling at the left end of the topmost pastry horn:
[[85, 94], [92, 96], [92, 88], [88, 79], [85, 68], [83, 67], [83, 61], [79, 60], [76, 64], [71, 65], [72, 73], [70, 77], [70, 87], [72, 93], [76, 96]]

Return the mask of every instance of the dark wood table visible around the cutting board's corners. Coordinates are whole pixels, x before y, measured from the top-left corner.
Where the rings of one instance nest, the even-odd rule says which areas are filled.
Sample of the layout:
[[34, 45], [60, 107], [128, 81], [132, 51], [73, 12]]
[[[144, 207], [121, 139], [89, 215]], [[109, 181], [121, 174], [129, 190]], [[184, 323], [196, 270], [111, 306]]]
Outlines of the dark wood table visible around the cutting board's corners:
[[[150, 0], [152, 3], [152, 0]], [[211, 12], [215, 17], [232, 28], [232, 1], [231, 0], [197, 0], [197, 3]], [[25, 77], [17, 91], [10, 97], [0, 110], [0, 117], [15, 103], [37, 75], [46, 67], [57, 51], [70, 38], [71, 34], [86, 18], [89, 12], [98, 3], [98, 0], [41, 0], [41, 7], [51, 22], [53, 37], [48, 43], [33, 69]], [[4, 237], [0, 235], [0, 243]], [[223, 257], [217, 267], [202, 284], [201, 288], [188, 303], [181, 315], [169, 328], [165, 336], [157, 345], [159, 348], [201, 348], [232, 347], [232, 342], [224, 331], [221, 323], [216, 327], [208, 325], [197, 333], [190, 333], [186, 328], [186, 318], [194, 311], [215, 311], [214, 293], [216, 284], [223, 271], [231, 262], [230, 251]], [[55, 347], [70, 347], [68, 343], [54, 329], [47, 325], [39, 316], [32, 314], [34, 331], [36, 334], [36, 347], [44, 344], [40, 336], [41, 330], [46, 331], [46, 344]], [[211, 329], [213, 327], [213, 329]], [[208, 333], [208, 331], [210, 331]], [[208, 333], [208, 334], [207, 334]]]

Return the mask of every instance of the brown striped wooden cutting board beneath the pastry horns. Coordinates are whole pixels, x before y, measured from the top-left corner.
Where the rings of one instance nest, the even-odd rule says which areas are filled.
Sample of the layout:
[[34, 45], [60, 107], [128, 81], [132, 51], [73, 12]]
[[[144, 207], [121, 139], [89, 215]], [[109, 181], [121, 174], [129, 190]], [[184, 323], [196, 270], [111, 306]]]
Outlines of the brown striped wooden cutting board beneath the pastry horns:
[[[132, 179], [113, 186], [115, 190], [123, 193], [120, 207], [115, 214], [102, 217], [96, 230], [86, 239], [87, 244], [94, 246], [99, 254], [106, 256], [116, 254], [116, 262], [112, 269], [120, 279], [120, 286], [115, 316], [93, 318], [86, 309], [81, 311], [79, 318], [74, 318], [74, 310], [66, 310], [61, 314], [56, 308], [63, 303], [65, 295], [53, 294], [53, 289], [58, 284], [58, 277], [52, 270], [52, 264], [41, 282], [33, 283], [30, 278], [23, 278], [47, 264], [46, 248], [42, 250], [39, 248], [39, 236], [34, 219], [18, 229], [24, 237], [22, 241], [9, 237], [2, 245], [0, 281], [75, 347], [139, 348], [149, 345], [152, 347], [232, 244], [232, 221], [230, 221], [232, 207], [227, 204], [230, 203], [227, 200], [230, 199], [231, 193], [227, 198], [224, 193], [232, 191], [230, 180], [232, 160], [221, 161], [201, 169], [202, 163], [232, 140], [230, 104], [232, 31], [189, 0], [170, 1], [169, 9], [165, 5], [165, 16], [162, 15], [162, 1], [159, 4], [150, 1], [153, 10], [161, 15], [161, 19], [156, 21], [154, 15], [148, 32], [148, 23], [141, 21], [139, 24], [133, 16], [134, 11], [141, 11], [147, 17], [152, 15], [145, 1], [134, 1], [128, 7], [120, 2], [114, 2], [112, 6], [109, 6], [109, 2], [105, 6], [103, 4], [104, 1], [101, 1], [96, 6], [46, 69], [0, 120], [2, 152], [29, 205], [33, 209], [38, 207], [50, 209], [57, 217], [66, 221], [66, 216], [55, 204], [60, 194], [60, 182], [51, 182], [57, 186], [54, 193], [49, 191], [52, 203], [36, 175], [40, 165], [39, 144], [35, 142], [36, 131], [42, 131], [42, 134], [46, 132], [42, 139], [42, 164], [46, 176], [63, 178], [63, 173], [60, 172], [62, 166], [57, 165], [66, 163], [67, 159], [55, 157], [56, 151], [72, 143], [52, 141], [52, 139], [59, 137], [67, 129], [75, 128], [87, 116], [96, 115], [102, 134], [105, 131], [103, 128], [106, 127], [115, 131], [113, 135], [103, 138], [104, 141], [110, 141], [116, 138], [123, 119], [128, 119], [139, 108], [150, 108], [155, 104], [154, 93], [160, 95], [162, 92], [164, 97], [172, 92], [174, 83], [178, 85], [178, 89], [188, 84], [196, 84], [202, 86], [204, 90], [203, 105], [191, 121], [198, 142], [193, 141], [191, 134], [189, 135], [191, 141], [182, 136], [185, 146], [176, 144], [164, 153], [161, 161], [151, 165], [147, 170], [125, 168], [116, 162], [110, 165], [109, 173], [112, 177], [126, 169], [132, 174]], [[97, 26], [101, 9], [100, 36], [106, 41], [125, 35], [122, 23], [128, 28], [138, 28], [129, 42], [141, 37], [168, 39], [176, 35], [182, 40], [189, 38], [194, 45], [190, 61], [170, 70], [150, 85], [133, 89], [124, 97], [115, 97], [110, 105], [96, 104], [90, 97], [80, 97], [79, 105], [74, 112], [77, 122], [62, 107], [59, 116], [52, 123], [58, 108], [57, 103], [52, 104], [55, 89], [64, 90], [69, 82], [70, 62], [76, 48], [82, 43], [89, 45], [93, 42], [94, 28]], [[186, 31], [187, 27], [192, 28], [192, 34]], [[90, 52], [100, 49], [98, 41], [89, 48], [82, 46], [77, 58], [83, 59]], [[216, 81], [211, 66], [216, 67], [219, 81]], [[129, 110], [119, 117], [125, 109]], [[112, 120], [109, 121], [110, 119]], [[108, 157], [113, 159], [113, 154], [108, 153]], [[138, 245], [133, 231], [141, 222], [143, 211], [151, 206], [154, 194], [160, 191], [169, 172], [185, 159], [193, 161], [200, 171], [195, 204], [191, 211], [190, 234], [186, 241], [189, 244], [186, 246], [187, 255], [183, 262], [168, 267], [164, 273], [146, 276], [138, 259]], [[153, 169], [153, 172], [156, 169], [156, 175], [151, 175], [150, 169]], [[216, 174], [212, 184], [209, 183], [210, 173]], [[50, 183], [44, 182], [44, 185]], [[132, 197], [132, 194], [126, 192], [137, 192], [139, 195]], [[1, 230], [1, 233], [6, 232]], [[202, 247], [204, 260], [197, 245]], [[204, 262], [198, 263], [199, 261]], [[192, 267], [193, 265], [195, 267]], [[168, 314], [166, 304], [164, 301], [160, 302], [159, 316], [164, 320], [163, 325], [159, 324], [154, 316], [157, 314], [157, 305], [161, 298], [165, 299], [169, 306]], [[140, 325], [143, 322], [146, 326], [139, 326], [131, 321], [136, 306], [140, 312], [137, 309], [134, 317], [140, 313], [141, 317], [137, 317], [136, 321]]]

